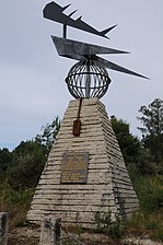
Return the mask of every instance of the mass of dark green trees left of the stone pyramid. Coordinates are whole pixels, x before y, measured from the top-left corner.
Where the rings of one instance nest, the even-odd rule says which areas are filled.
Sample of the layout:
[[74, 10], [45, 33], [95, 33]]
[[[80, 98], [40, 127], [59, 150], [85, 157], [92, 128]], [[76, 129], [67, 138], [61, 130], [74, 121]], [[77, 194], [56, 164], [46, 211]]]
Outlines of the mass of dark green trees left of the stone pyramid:
[[12, 152], [0, 150], [0, 182], [7, 179], [13, 189], [35, 187], [59, 127], [56, 117], [35, 140], [22, 141]]

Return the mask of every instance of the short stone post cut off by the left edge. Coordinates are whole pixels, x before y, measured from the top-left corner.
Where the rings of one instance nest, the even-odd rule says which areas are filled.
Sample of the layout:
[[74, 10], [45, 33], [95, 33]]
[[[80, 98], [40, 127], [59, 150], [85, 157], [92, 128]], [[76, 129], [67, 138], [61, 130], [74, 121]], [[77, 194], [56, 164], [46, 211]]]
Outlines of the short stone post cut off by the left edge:
[[0, 212], [0, 245], [8, 244], [8, 223], [9, 223], [8, 213]]

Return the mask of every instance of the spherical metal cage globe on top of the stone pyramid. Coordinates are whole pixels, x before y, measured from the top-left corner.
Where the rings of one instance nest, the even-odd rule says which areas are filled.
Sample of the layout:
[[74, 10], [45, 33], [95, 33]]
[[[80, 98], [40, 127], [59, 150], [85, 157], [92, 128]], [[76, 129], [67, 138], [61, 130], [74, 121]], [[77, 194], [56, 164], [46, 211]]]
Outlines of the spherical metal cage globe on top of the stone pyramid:
[[74, 98], [101, 98], [106, 93], [110, 79], [103, 65], [85, 58], [70, 69], [66, 83]]

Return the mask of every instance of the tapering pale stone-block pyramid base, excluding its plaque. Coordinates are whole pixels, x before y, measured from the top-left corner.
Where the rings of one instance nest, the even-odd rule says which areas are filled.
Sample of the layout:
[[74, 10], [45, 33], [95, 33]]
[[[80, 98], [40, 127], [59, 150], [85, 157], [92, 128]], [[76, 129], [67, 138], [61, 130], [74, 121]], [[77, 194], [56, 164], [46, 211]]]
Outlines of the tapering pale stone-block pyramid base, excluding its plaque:
[[[81, 133], [74, 137], [78, 109], [79, 100], [71, 101], [27, 213], [32, 223], [53, 215], [66, 225], [95, 228], [96, 212], [110, 211], [113, 219], [117, 214], [127, 219], [139, 209], [105, 106], [98, 98], [84, 98]], [[61, 184], [65, 152], [89, 152], [86, 184]]]

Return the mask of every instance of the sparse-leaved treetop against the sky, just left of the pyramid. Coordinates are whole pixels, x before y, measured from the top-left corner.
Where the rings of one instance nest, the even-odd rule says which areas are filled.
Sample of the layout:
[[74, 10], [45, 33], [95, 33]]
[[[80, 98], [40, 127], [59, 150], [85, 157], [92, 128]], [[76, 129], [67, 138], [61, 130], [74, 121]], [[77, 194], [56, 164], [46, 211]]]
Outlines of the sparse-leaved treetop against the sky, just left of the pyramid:
[[59, 117], [55, 117], [51, 124], [47, 124], [46, 126], [42, 127], [42, 133], [36, 136], [36, 141], [38, 141], [40, 144], [46, 147], [47, 154], [49, 153], [54, 140], [56, 139], [56, 136], [60, 128], [60, 120]]

